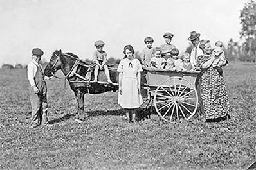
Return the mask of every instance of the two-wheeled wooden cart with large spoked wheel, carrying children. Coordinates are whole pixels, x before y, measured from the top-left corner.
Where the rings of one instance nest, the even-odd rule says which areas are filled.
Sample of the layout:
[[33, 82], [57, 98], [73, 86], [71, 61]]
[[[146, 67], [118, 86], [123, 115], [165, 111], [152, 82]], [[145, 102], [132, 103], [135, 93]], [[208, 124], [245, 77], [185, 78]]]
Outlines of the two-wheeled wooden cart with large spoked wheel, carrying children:
[[167, 122], [189, 120], [197, 111], [199, 98], [195, 82], [199, 71], [177, 72], [143, 67], [142, 84], [146, 103]]

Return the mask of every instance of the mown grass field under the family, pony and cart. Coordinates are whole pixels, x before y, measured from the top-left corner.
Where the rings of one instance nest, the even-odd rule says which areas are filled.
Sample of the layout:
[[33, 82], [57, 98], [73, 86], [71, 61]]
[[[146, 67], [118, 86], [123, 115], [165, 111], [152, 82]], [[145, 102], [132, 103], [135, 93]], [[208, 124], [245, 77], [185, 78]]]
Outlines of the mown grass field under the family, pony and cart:
[[127, 123], [117, 92], [86, 94], [89, 120], [77, 123], [64, 80], [48, 81], [50, 128], [30, 129], [25, 69], [0, 69], [0, 169], [246, 169], [256, 161], [256, 67], [224, 69], [231, 119]]

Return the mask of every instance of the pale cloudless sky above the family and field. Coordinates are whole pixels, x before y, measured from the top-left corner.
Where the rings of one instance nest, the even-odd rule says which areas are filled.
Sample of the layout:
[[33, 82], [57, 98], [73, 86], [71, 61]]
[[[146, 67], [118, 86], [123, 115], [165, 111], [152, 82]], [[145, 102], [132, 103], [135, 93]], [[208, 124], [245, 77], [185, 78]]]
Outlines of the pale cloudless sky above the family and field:
[[145, 48], [164, 43], [163, 33], [174, 34], [179, 51], [188, 47], [195, 30], [214, 44], [239, 41], [240, 11], [247, 0], [0, 0], [0, 66], [26, 65], [39, 47], [50, 60], [56, 49], [91, 59], [96, 40], [105, 42], [108, 58], [123, 58], [123, 47]]

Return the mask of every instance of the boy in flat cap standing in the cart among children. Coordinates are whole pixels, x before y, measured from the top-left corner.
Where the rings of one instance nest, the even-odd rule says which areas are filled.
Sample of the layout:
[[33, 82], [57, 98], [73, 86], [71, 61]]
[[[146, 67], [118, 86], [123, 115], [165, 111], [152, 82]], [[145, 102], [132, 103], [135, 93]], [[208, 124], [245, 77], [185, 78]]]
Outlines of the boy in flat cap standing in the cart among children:
[[175, 48], [173, 44], [170, 44], [170, 42], [172, 42], [172, 37], [174, 37], [173, 33], [167, 32], [163, 34], [163, 38], [165, 38], [165, 44], [160, 45], [160, 49], [161, 55], [163, 58], [165, 58], [165, 60], [171, 56], [170, 51]]

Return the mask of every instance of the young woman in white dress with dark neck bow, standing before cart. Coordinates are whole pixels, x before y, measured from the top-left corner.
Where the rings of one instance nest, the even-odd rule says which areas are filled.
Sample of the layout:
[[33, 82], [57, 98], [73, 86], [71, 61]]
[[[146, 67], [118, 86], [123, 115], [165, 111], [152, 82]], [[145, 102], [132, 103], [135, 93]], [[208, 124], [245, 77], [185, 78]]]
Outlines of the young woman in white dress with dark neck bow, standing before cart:
[[140, 94], [140, 77], [142, 65], [134, 58], [133, 46], [124, 47], [125, 58], [120, 61], [117, 72], [119, 72], [119, 94], [118, 104], [125, 109], [128, 121], [135, 121], [136, 110], [142, 105]]

